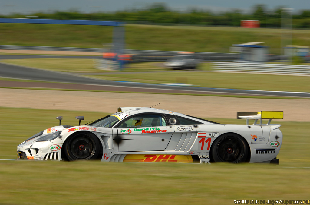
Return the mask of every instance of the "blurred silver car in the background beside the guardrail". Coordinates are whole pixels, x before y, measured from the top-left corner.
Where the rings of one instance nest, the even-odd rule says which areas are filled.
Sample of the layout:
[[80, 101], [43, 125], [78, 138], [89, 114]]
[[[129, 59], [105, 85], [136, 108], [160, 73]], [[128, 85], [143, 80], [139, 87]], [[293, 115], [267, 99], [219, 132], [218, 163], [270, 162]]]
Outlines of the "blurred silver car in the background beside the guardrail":
[[178, 53], [165, 62], [165, 66], [171, 69], [196, 69], [198, 64], [198, 56], [192, 52]]

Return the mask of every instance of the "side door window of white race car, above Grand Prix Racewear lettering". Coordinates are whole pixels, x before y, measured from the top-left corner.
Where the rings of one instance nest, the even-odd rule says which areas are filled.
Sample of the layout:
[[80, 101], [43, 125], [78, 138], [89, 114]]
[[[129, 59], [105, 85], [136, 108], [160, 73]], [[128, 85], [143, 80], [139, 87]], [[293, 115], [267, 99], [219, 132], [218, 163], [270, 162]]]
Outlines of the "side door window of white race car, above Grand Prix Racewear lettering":
[[119, 128], [158, 127], [166, 126], [166, 120], [159, 114], [135, 115], [120, 124]]

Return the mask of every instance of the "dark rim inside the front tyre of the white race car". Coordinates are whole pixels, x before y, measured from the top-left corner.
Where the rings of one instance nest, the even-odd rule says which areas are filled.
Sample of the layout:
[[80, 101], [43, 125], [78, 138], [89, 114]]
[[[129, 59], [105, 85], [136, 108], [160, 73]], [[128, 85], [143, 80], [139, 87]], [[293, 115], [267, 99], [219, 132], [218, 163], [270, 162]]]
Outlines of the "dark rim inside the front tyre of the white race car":
[[90, 136], [78, 135], [71, 139], [69, 143], [69, 152], [76, 160], [87, 160], [95, 154], [95, 142]]

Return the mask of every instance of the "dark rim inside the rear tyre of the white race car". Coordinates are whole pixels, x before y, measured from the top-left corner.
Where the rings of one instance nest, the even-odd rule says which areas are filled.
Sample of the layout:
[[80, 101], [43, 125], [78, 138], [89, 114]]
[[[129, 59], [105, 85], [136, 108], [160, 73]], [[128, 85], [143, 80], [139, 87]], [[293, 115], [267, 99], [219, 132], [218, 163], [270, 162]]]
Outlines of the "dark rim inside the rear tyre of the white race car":
[[234, 136], [223, 138], [217, 147], [217, 155], [221, 161], [237, 163], [244, 156], [244, 146], [242, 141]]

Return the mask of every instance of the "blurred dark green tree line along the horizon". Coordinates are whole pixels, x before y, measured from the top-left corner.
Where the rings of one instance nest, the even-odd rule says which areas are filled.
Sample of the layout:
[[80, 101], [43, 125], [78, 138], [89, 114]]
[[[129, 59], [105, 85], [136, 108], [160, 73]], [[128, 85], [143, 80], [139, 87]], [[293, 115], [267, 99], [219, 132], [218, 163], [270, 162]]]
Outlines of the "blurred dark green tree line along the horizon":
[[[267, 10], [265, 5], [256, 5], [249, 14], [241, 10], [214, 13], [209, 10], [188, 9], [175, 11], [164, 3], [155, 3], [144, 9], [132, 9], [116, 12], [81, 13], [76, 10], [55, 11], [53, 13], [32, 13], [38, 19], [71, 19], [95, 21], [122, 21], [125, 23], [146, 24], [193, 24], [201, 26], [240, 26], [241, 20], [259, 20], [260, 27], [281, 27], [281, 7]], [[22, 14], [0, 15], [0, 18], [24, 18]], [[293, 28], [310, 28], [310, 10], [293, 14]]]

